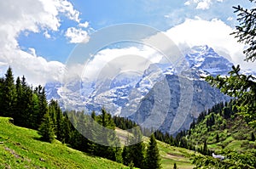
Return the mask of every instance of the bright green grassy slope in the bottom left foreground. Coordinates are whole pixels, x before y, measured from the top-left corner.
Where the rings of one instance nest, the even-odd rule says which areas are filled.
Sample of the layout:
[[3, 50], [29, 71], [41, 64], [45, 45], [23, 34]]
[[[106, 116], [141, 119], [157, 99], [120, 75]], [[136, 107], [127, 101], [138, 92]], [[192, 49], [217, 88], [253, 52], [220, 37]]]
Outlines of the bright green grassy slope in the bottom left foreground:
[[0, 168], [128, 168], [92, 157], [55, 141], [39, 141], [35, 130], [16, 127], [0, 117]]

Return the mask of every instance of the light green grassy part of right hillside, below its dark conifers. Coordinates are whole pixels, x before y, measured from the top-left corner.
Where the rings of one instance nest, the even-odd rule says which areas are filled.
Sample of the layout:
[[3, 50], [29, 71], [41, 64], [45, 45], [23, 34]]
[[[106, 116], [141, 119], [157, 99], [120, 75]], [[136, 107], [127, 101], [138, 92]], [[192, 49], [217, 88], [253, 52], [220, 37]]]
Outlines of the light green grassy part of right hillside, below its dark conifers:
[[[209, 130], [207, 127], [207, 115], [204, 121], [197, 124], [189, 135], [189, 143], [201, 145], [203, 140], [207, 140], [207, 147], [218, 153], [221, 149], [234, 149], [239, 152], [246, 152], [256, 149], [256, 141], [251, 141], [251, 134], [256, 133], [252, 127], [248, 127], [246, 122], [239, 116], [224, 119], [219, 114], [215, 116], [215, 124]], [[218, 134], [218, 140], [217, 140]]]

